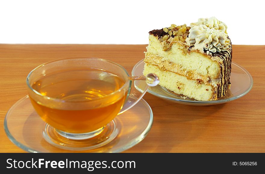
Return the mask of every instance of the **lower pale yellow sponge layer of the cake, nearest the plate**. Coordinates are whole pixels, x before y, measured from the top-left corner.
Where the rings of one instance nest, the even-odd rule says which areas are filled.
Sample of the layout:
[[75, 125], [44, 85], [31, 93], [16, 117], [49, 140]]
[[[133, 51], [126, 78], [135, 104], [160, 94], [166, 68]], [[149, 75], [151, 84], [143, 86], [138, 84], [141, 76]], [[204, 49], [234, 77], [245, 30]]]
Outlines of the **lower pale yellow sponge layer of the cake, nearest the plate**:
[[177, 94], [189, 96], [200, 101], [209, 101], [217, 99], [217, 92], [210, 84], [198, 82], [194, 79], [188, 79], [186, 76], [175, 72], [159, 69], [158, 66], [145, 63], [143, 74], [155, 73], [159, 79], [159, 85]]

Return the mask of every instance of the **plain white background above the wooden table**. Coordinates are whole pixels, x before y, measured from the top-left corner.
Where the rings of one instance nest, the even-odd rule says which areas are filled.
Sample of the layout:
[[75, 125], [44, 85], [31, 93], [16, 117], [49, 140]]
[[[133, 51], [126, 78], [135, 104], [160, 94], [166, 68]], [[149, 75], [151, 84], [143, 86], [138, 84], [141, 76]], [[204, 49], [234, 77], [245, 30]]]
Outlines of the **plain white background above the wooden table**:
[[233, 44], [265, 45], [264, 14], [257, 0], [1, 0], [0, 43], [147, 44], [148, 31], [215, 16]]

